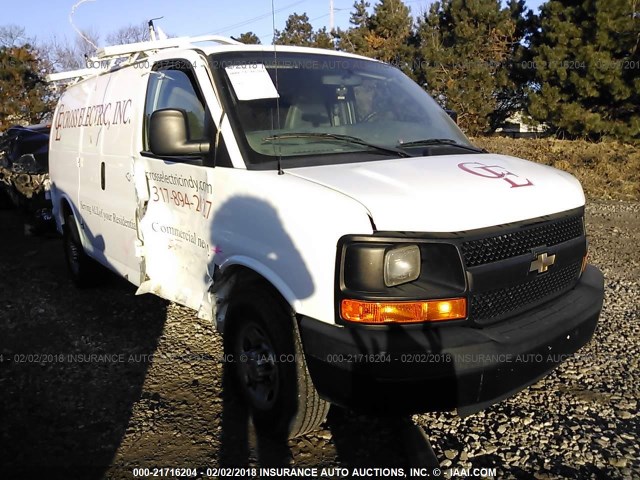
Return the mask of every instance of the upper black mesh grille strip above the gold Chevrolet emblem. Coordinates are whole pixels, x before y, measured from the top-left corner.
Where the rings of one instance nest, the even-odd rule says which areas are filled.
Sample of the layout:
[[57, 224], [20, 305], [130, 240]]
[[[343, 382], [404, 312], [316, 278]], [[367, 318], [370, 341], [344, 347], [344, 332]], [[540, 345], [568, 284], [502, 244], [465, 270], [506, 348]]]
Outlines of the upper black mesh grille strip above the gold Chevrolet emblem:
[[469, 240], [462, 244], [462, 255], [468, 267], [475, 267], [530, 253], [532, 248], [558, 245], [583, 234], [581, 214], [502, 235]]

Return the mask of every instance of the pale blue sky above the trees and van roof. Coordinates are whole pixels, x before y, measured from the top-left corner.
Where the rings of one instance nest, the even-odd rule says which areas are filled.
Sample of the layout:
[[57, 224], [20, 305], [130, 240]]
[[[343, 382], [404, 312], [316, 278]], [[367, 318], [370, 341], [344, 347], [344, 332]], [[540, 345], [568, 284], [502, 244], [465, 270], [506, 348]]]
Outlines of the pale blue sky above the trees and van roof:
[[[252, 31], [262, 43], [273, 38], [271, 0], [0, 0], [0, 25], [15, 24], [26, 29], [29, 38], [47, 41], [52, 36], [72, 39], [75, 31], [93, 29], [104, 39], [107, 34], [129, 24], [164, 17], [156, 23], [166, 33], [177, 36], [219, 34], [237, 36]], [[428, 9], [432, 0], [405, 0], [414, 16]], [[291, 13], [306, 13], [314, 28], [329, 27], [329, 0], [273, 0], [275, 28], [282, 30]], [[349, 26], [353, 0], [334, 0], [336, 27]], [[375, 4], [375, 0], [370, 0]], [[537, 10], [542, 0], [527, 0]], [[98, 45], [101, 46], [101, 45]]]

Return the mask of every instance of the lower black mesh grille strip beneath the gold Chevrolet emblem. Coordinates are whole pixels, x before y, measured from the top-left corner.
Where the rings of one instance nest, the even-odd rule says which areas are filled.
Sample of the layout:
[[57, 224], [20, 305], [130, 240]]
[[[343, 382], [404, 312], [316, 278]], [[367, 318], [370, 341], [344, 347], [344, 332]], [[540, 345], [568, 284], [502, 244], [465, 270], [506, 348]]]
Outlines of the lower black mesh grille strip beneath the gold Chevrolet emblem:
[[578, 279], [581, 262], [536, 275], [531, 280], [511, 287], [479, 293], [471, 297], [469, 318], [479, 324], [493, 323], [500, 317], [573, 286]]

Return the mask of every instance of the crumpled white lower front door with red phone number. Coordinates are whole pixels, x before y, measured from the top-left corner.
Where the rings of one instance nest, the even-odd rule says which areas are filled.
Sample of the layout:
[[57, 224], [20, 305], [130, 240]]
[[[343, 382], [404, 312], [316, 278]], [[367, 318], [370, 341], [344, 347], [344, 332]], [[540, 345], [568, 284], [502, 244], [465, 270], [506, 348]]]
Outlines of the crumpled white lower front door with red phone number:
[[141, 260], [136, 293], [154, 293], [212, 319], [214, 170], [139, 157], [134, 172]]

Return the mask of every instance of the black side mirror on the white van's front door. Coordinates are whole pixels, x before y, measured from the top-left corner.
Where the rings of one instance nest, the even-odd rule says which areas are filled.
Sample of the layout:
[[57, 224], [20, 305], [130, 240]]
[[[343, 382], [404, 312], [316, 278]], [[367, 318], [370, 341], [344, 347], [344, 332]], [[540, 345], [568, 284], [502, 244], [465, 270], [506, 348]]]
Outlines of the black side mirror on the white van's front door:
[[152, 153], [161, 157], [202, 156], [209, 153], [209, 142], [189, 140], [187, 112], [165, 108], [151, 114], [149, 148]]

